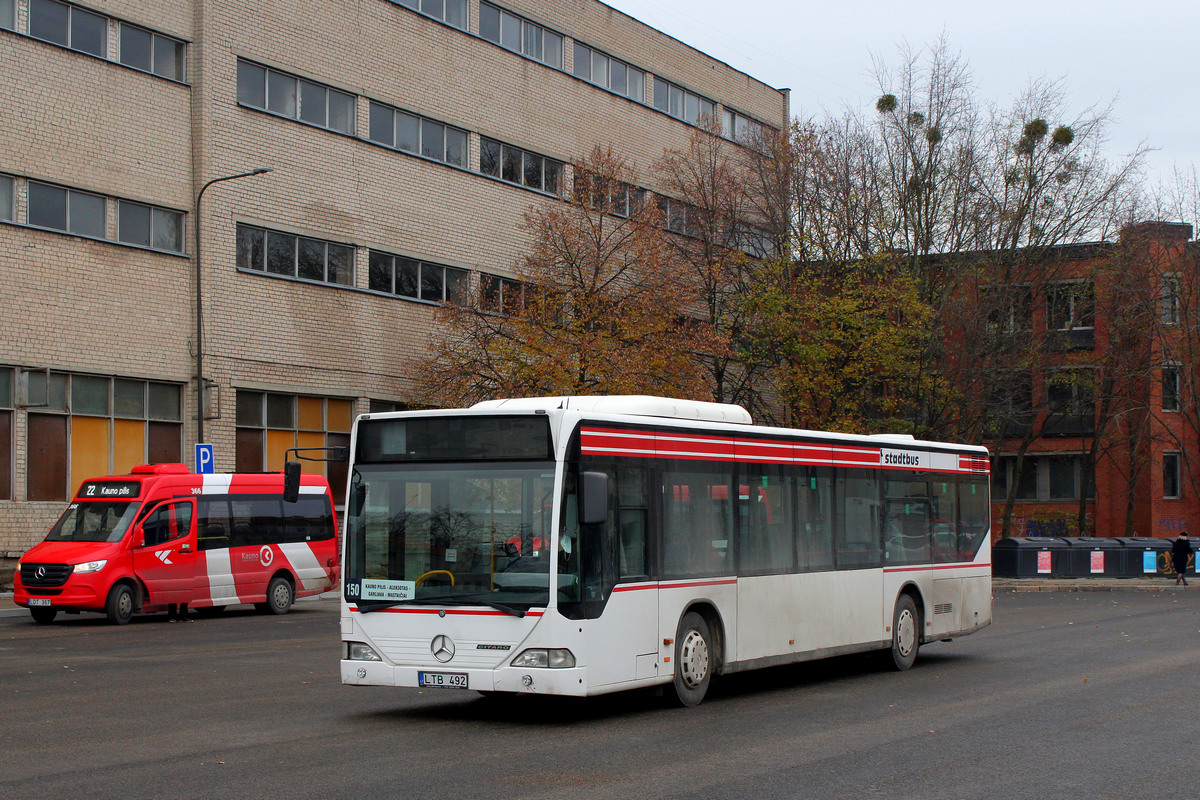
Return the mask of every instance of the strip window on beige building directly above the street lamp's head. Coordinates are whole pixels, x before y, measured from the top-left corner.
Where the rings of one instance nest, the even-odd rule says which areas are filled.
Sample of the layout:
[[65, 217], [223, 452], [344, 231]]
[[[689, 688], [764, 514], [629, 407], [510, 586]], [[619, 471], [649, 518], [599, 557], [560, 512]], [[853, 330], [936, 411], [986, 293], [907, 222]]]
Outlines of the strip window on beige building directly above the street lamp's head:
[[238, 102], [317, 127], [354, 133], [354, 95], [238, 61]]

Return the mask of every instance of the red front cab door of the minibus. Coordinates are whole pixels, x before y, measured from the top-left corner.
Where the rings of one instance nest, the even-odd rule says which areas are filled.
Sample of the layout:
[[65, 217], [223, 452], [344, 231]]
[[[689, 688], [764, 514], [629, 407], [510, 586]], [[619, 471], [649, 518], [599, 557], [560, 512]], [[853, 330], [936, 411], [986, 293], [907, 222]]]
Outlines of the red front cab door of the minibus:
[[133, 571], [146, 587], [146, 604], [191, 602], [196, 591], [196, 500], [155, 506], [133, 535]]

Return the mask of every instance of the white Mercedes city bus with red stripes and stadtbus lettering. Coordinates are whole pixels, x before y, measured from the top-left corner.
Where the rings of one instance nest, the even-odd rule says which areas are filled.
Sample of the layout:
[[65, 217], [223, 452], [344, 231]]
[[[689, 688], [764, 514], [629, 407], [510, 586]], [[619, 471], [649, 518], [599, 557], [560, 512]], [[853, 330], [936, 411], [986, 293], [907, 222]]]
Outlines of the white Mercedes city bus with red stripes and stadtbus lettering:
[[354, 425], [342, 681], [662, 685], [991, 621], [988, 452], [757, 427], [739, 407], [527, 398]]

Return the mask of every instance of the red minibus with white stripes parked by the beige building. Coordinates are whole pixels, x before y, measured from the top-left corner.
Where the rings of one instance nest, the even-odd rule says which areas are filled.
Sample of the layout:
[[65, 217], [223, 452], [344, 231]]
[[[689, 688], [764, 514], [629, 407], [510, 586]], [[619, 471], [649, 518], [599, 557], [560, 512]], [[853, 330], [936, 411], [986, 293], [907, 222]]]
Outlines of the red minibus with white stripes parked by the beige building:
[[101, 612], [124, 625], [134, 612], [185, 603], [286, 614], [295, 597], [337, 585], [336, 531], [320, 476], [302, 475], [288, 503], [282, 473], [134, 467], [83, 482], [46, 541], [20, 558], [13, 600], [38, 622]]

